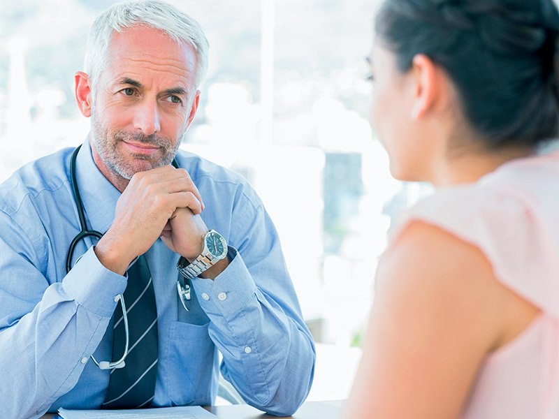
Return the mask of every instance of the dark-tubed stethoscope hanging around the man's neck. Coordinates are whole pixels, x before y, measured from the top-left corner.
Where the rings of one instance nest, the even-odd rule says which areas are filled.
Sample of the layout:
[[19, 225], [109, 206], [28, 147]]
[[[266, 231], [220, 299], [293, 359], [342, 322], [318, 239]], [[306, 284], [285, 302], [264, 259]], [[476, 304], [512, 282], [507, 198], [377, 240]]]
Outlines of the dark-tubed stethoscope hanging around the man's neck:
[[[85, 212], [83, 209], [82, 198], [80, 197], [80, 191], [78, 190], [78, 180], [75, 177], [75, 160], [78, 157], [78, 152], [80, 151], [80, 147], [82, 146], [79, 145], [78, 147], [76, 147], [76, 149], [72, 153], [72, 158], [70, 163], [70, 181], [72, 184], [72, 192], [75, 200], [75, 207], [78, 210], [78, 217], [80, 218], [81, 231], [73, 238], [72, 242], [70, 243], [70, 247], [68, 248], [68, 254], [66, 256], [66, 274], [70, 272], [70, 270], [72, 269], [72, 256], [76, 244], [78, 244], [80, 240], [85, 239], [85, 237], [96, 237], [96, 239], [100, 239], [101, 237], [103, 237], [103, 235], [99, 233], [99, 231], [88, 230], [87, 223], [85, 222]], [[175, 168], [179, 167], [175, 159], [173, 159], [173, 162], [171, 164]], [[177, 280], [177, 291], [180, 296], [180, 302], [182, 302], [182, 307], [184, 307], [186, 311], [189, 311], [189, 309], [187, 308], [187, 300], [190, 300], [191, 295], [190, 295], [190, 286], [187, 283], [187, 281], [184, 281], [184, 283], [181, 284], [180, 280]], [[115, 362], [110, 362], [110, 361], [98, 362], [95, 359], [94, 355], [92, 355], [91, 358], [93, 362], [100, 369], [123, 368], [125, 365], [124, 360], [126, 359], [126, 356], [128, 356], [130, 333], [128, 329], [128, 314], [126, 313], [126, 304], [124, 304], [124, 297], [122, 296], [122, 294], [119, 294], [115, 297], [115, 302], [118, 301], [120, 301], [120, 307], [122, 308], [122, 319], [124, 321], [124, 335], [126, 335], [126, 343], [124, 344], [124, 353], [122, 354], [122, 357]]]

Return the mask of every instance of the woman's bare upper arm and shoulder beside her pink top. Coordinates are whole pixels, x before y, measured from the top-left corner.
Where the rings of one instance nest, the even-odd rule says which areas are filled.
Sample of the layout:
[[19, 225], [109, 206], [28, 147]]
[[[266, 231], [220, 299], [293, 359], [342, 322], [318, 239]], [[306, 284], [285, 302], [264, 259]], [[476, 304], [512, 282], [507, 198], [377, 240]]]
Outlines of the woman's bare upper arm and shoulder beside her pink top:
[[536, 314], [480, 249], [410, 223], [379, 262], [344, 418], [457, 418], [486, 355]]

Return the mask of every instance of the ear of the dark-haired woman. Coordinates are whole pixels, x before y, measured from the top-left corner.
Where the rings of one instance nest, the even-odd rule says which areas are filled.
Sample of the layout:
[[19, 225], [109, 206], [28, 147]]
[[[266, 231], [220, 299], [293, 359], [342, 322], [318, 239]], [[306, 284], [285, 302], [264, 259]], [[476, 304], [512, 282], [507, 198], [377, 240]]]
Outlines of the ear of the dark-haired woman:
[[412, 119], [420, 119], [428, 110], [435, 106], [440, 94], [440, 71], [433, 61], [424, 54], [417, 54], [412, 61], [414, 76], [414, 103]]

